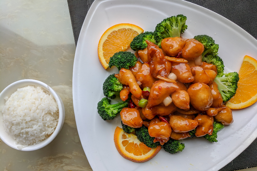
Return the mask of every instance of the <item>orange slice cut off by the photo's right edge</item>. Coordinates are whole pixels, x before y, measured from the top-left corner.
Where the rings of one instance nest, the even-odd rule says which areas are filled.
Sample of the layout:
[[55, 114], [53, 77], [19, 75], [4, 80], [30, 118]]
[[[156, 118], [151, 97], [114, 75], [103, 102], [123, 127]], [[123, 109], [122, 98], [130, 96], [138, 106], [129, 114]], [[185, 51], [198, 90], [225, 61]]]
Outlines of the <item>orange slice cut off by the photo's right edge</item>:
[[239, 81], [235, 96], [227, 103], [230, 109], [242, 109], [257, 101], [257, 61], [245, 55], [239, 71]]

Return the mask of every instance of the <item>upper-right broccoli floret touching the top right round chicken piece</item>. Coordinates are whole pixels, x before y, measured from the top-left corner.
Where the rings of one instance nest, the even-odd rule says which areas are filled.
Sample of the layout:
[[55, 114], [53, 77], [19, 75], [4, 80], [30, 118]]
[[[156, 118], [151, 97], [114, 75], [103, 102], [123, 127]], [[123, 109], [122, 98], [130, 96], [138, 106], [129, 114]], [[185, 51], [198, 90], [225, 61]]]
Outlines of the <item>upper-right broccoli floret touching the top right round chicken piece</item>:
[[215, 44], [215, 41], [207, 35], [198, 35], [195, 36], [194, 39], [201, 42], [204, 46], [204, 51], [202, 53], [202, 57], [206, 54], [213, 54], [214, 56], [218, 54], [219, 44]]

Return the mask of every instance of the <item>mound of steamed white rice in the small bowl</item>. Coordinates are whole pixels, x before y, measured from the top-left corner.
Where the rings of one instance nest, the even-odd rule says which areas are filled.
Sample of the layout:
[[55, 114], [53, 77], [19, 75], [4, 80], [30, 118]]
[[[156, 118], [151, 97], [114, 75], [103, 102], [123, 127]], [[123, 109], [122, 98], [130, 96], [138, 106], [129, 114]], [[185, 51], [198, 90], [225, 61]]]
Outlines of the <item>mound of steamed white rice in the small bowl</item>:
[[18, 88], [5, 97], [2, 109], [4, 129], [12, 136], [19, 149], [38, 144], [55, 130], [59, 111], [54, 97], [42, 87]]

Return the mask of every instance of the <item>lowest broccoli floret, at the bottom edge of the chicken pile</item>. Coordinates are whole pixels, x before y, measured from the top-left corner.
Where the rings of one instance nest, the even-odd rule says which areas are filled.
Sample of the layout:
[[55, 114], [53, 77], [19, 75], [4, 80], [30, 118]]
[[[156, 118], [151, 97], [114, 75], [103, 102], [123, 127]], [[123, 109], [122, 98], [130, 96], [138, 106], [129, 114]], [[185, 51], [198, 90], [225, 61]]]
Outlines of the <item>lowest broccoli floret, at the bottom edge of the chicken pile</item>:
[[170, 139], [167, 143], [162, 146], [163, 150], [169, 153], [177, 153], [178, 151], [182, 151], [185, 148], [185, 144], [179, 143], [178, 140]]

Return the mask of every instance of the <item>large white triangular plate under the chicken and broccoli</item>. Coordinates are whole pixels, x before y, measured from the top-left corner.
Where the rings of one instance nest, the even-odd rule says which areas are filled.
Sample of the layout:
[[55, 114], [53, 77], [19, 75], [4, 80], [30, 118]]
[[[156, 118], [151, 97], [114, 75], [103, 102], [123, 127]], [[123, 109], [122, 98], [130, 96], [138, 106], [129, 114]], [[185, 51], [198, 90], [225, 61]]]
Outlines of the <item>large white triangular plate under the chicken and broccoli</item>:
[[169, 154], [163, 149], [145, 163], [124, 159], [116, 150], [113, 135], [121, 127], [120, 117], [104, 121], [97, 103], [104, 97], [102, 83], [118, 69], [103, 69], [98, 61], [98, 41], [104, 31], [119, 23], [132, 23], [145, 31], [154, 31], [164, 18], [183, 14], [188, 29], [183, 34], [209, 35], [219, 44], [219, 56], [225, 71], [239, 71], [244, 55], [256, 58], [257, 41], [228, 19], [198, 5], [174, 0], [95, 0], [82, 26], [73, 69], [73, 102], [78, 134], [94, 171], [104, 170], [198, 170], [215, 171], [238, 156], [257, 137], [256, 103], [233, 110], [234, 123], [218, 133], [217, 143], [203, 138], [182, 140], [183, 152]]

